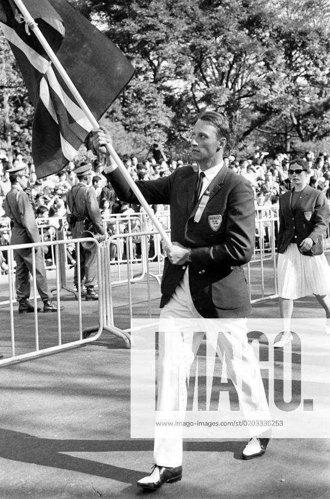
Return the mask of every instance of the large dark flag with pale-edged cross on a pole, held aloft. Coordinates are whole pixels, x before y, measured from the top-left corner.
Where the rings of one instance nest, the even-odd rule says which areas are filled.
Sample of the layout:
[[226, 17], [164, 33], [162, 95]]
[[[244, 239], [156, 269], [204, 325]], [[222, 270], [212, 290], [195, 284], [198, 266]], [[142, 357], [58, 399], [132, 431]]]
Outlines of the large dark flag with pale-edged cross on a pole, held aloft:
[[[99, 120], [134, 74], [121, 50], [66, 0], [24, 0], [90, 111]], [[0, 27], [33, 106], [37, 178], [61, 171], [92, 130], [67, 85], [12, 0], [0, 0]]]

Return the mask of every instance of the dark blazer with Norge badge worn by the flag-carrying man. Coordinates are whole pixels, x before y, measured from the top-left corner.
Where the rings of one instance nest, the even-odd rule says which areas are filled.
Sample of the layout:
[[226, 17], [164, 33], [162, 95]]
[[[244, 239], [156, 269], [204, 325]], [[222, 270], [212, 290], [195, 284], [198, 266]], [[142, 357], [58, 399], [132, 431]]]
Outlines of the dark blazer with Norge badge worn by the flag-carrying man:
[[[139, 204], [119, 169], [107, 174], [119, 199]], [[209, 201], [198, 223], [193, 199], [198, 173], [189, 166], [170, 176], [136, 182], [148, 204], [170, 206], [171, 241], [191, 248], [189, 287], [198, 312], [207, 318], [244, 317], [251, 313], [241, 265], [252, 256], [255, 234], [253, 192], [250, 184], [223, 166], [207, 191]], [[210, 249], [212, 248], [212, 255]], [[173, 294], [187, 264], [166, 258], [161, 307]]]

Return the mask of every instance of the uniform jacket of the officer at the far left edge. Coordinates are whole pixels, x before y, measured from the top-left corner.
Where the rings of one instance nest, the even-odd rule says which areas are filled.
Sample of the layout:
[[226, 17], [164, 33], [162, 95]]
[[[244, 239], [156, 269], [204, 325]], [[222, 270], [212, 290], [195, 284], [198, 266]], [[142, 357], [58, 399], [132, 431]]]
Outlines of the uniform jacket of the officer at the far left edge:
[[39, 243], [40, 235], [28, 195], [13, 185], [5, 197], [3, 209], [11, 220], [11, 245]]

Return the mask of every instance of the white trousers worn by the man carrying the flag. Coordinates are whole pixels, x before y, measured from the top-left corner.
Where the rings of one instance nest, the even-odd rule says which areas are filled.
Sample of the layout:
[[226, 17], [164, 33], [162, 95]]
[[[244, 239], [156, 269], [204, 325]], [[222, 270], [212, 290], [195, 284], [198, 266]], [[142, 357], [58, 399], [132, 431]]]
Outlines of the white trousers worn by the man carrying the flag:
[[[203, 320], [194, 307], [190, 295], [188, 269], [185, 271], [170, 300], [161, 309], [160, 331], [162, 331], [162, 320], [168, 325], [171, 319], [173, 319], [172, 331], [175, 331], [175, 319], [176, 322], [177, 319]], [[210, 331], [210, 322], [214, 322], [214, 331]], [[220, 358], [223, 357], [223, 354], [225, 355], [227, 375], [236, 388], [244, 417], [250, 419], [251, 415], [253, 415], [253, 418], [258, 418], [259, 413], [260, 419], [269, 420], [270, 414], [259, 365], [253, 349], [248, 343], [247, 332], [246, 318], [207, 320], [207, 334], [211, 336], [213, 333], [216, 334], [214, 334], [216, 351], [218, 354], [220, 353]], [[187, 328], [181, 334], [162, 334], [160, 332], [158, 411], [179, 410], [181, 419], [184, 419], [187, 402], [186, 377], [203, 336], [204, 333], [202, 332], [192, 333], [191, 328]], [[251, 394], [256, 393], [256, 391], [259, 397], [254, 402]], [[158, 426], [155, 427], [154, 459], [159, 466], [171, 468], [182, 464], [182, 427], [175, 428], [174, 432], [172, 434], [174, 438], [164, 438], [164, 430]], [[257, 434], [256, 428], [251, 427], [250, 435]]]

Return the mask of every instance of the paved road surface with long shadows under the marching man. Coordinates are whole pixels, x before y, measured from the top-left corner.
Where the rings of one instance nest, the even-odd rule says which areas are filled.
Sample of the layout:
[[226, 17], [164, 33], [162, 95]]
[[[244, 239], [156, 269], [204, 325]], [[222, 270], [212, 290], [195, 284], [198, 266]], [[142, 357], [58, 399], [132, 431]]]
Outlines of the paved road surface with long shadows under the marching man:
[[[2, 283], [2, 287], [1, 287]], [[0, 295], [4, 291], [0, 282]], [[153, 297], [157, 286], [153, 289]], [[146, 312], [134, 286], [136, 313]], [[1, 296], [0, 296], [1, 298]], [[115, 295], [115, 319], [127, 324], [125, 293]], [[158, 300], [153, 300], [158, 313]], [[77, 303], [63, 293], [65, 340], [77, 335]], [[97, 305], [84, 302], [83, 323], [97, 322]], [[255, 317], [277, 317], [278, 302], [254, 307]], [[312, 297], [299, 300], [297, 317], [322, 317]], [[43, 346], [54, 343], [52, 315], [40, 315]], [[21, 351], [33, 348], [33, 323], [14, 314]], [[8, 308], [0, 308], [0, 350], [9, 355]], [[31, 330], [32, 328], [32, 330]], [[130, 439], [130, 351], [103, 333], [93, 344], [0, 369], [0, 499], [129, 498], [145, 494], [135, 483], [151, 469], [150, 440]], [[330, 498], [330, 441], [272, 440], [259, 459], [242, 461], [244, 440], [184, 443], [183, 479], [159, 498]]]

